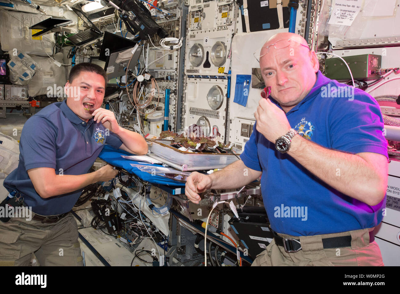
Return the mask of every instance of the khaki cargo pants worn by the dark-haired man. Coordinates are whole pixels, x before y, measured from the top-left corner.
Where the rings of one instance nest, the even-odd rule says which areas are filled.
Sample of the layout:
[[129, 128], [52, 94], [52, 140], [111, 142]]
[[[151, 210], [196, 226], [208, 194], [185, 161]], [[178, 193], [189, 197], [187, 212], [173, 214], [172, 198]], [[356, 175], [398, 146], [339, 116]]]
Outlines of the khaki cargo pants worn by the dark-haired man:
[[32, 253], [41, 266], [83, 266], [72, 214], [52, 224], [26, 218], [0, 221], [0, 266], [28, 266]]

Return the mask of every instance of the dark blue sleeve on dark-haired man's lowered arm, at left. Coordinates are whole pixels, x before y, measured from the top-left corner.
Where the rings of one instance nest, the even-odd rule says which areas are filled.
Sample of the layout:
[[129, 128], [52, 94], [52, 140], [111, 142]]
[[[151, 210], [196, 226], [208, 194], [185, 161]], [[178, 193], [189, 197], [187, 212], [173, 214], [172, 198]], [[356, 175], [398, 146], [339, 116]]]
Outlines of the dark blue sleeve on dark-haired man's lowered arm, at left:
[[32, 116], [22, 128], [20, 151], [25, 169], [56, 169], [56, 140], [58, 129], [43, 116]]

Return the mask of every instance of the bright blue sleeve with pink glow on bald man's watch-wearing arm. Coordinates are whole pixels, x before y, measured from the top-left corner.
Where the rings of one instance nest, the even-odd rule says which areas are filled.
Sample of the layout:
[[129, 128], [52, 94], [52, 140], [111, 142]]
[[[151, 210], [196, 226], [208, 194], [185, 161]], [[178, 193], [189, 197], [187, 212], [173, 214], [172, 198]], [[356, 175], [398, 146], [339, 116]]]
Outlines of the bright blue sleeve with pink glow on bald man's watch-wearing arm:
[[378, 103], [362, 90], [354, 99], [336, 98], [330, 112], [330, 140], [334, 149], [374, 152], [388, 157], [384, 123]]

